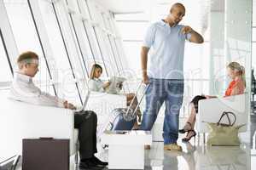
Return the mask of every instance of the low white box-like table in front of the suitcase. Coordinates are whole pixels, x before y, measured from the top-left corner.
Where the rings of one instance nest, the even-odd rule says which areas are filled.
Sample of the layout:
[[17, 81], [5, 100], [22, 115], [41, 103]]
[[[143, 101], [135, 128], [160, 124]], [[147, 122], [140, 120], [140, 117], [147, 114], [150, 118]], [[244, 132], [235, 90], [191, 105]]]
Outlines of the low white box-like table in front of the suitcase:
[[144, 169], [144, 145], [152, 144], [152, 135], [147, 131], [107, 131], [102, 144], [108, 144], [108, 169]]

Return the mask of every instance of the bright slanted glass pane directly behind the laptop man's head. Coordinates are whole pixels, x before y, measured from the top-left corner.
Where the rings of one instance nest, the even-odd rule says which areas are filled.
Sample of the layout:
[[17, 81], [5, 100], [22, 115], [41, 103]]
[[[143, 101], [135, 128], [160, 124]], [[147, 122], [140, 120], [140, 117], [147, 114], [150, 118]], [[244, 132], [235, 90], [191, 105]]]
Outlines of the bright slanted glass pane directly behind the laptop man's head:
[[9, 22], [15, 36], [19, 53], [33, 51], [39, 56], [39, 72], [35, 77], [36, 82], [49, 81], [49, 72], [46, 67], [36, 28], [33, 24], [32, 14], [26, 0], [15, 3], [11, 0], [4, 0], [4, 4], [9, 17]]

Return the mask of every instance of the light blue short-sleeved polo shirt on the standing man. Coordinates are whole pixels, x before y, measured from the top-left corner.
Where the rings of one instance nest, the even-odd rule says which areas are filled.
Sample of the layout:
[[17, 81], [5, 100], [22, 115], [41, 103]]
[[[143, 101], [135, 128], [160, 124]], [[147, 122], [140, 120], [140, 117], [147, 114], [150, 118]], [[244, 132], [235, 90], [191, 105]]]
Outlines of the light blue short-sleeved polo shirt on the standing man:
[[148, 27], [143, 47], [150, 48], [148, 77], [160, 79], [183, 79], [183, 56], [185, 40], [191, 34], [181, 32], [183, 25], [169, 26], [163, 20]]

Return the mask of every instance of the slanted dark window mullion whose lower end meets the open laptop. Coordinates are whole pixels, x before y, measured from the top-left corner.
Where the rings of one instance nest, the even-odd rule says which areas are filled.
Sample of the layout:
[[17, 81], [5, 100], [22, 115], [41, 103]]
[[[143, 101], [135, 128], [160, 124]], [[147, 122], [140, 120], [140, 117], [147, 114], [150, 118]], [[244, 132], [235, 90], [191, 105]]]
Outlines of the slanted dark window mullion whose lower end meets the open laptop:
[[[68, 63], [70, 65], [70, 68], [71, 68], [71, 71], [72, 71], [72, 74], [73, 74], [73, 78], [76, 79], [75, 77], [75, 74], [74, 74], [74, 71], [73, 71], [73, 65], [71, 63], [71, 59], [69, 57], [69, 54], [68, 54], [68, 51], [67, 51], [67, 44], [65, 42], [65, 39], [64, 39], [64, 36], [63, 36], [63, 32], [61, 30], [61, 24], [60, 24], [60, 20], [58, 19], [58, 16], [57, 16], [57, 13], [56, 13], [56, 9], [55, 9], [55, 4], [54, 3], [51, 3], [52, 4], [52, 7], [54, 9], [54, 13], [55, 13], [55, 19], [57, 21], [57, 25], [59, 27], [59, 31], [61, 33], [61, 39], [62, 39], [62, 42], [63, 42], [63, 45], [64, 45], [64, 48], [65, 48], [65, 52], [67, 54], [67, 60], [68, 60]], [[82, 100], [82, 97], [81, 97], [81, 94], [80, 94], [80, 91], [79, 91], [79, 85], [78, 85], [78, 82], [75, 82], [75, 85], [76, 85], [76, 88], [78, 90], [78, 93], [79, 93], [79, 99], [80, 99], [80, 103], [83, 104], [83, 100]]]

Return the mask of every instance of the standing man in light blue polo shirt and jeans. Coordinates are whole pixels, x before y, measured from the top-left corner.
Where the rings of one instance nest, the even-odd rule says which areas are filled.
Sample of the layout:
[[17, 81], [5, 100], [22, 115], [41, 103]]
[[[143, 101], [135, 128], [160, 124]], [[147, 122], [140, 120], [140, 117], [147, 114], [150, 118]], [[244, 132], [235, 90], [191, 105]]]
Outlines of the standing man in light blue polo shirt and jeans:
[[[163, 127], [164, 149], [182, 151], [177, 145], [178, 116], [183, 103], [183, 55], [185, 40], [202, 43], [203, 37], [190, 26], [178, 25], [183, 20], [185, 8], [175, 3], [165, 20], [148, 27], [141, 51], [143, 82], [148, 84], [146, 109], [143, 113], [142, 130], [151, 130], [165, 102]], [[148, 51], [150, 50], [150, 65]]]

